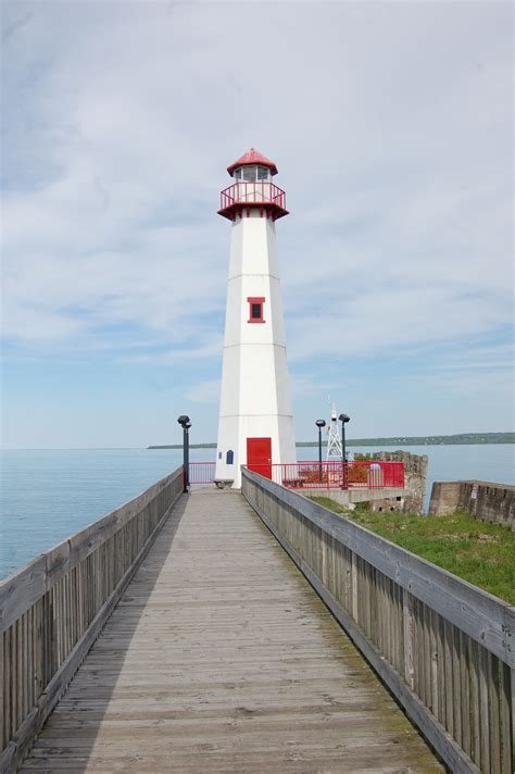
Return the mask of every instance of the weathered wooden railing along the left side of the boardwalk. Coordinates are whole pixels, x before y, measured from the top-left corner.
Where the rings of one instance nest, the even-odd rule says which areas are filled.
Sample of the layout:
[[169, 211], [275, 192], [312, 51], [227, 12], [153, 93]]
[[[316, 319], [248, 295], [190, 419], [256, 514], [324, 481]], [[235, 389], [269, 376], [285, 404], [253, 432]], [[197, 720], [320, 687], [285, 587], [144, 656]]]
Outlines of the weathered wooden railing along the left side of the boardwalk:
[[183, 469], [0, 582], [0, 772], [14, 772], [183, 491]]

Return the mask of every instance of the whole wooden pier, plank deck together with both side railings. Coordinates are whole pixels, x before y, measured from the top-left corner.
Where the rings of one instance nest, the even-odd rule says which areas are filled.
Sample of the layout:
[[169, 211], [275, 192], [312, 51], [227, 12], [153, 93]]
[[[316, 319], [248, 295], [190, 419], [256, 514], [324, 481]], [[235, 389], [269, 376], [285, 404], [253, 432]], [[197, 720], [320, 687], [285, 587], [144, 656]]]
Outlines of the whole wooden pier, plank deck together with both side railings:
[[0, 612], [2, 772], [513, 772], [514, 609], [249, 471], [177, 471]]

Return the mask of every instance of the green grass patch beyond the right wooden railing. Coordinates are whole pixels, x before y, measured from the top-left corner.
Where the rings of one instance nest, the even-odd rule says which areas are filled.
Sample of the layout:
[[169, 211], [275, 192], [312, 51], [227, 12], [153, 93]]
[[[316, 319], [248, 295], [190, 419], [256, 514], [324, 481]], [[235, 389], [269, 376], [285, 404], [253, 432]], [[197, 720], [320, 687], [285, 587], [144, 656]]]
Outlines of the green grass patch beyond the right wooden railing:
[[346, 511], [328, 497], [311, 499], [515, 604], [515, 533], [507, 527], [477, 522], [468, 513], [424, 517]]

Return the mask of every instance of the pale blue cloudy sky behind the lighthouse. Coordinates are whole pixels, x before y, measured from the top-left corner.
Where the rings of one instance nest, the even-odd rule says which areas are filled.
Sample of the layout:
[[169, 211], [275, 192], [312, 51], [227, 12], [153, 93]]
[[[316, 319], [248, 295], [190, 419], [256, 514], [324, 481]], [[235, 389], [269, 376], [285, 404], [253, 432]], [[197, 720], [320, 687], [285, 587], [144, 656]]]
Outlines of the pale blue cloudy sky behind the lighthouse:
[[298, 440], [507, 432], [513, 8], [2, 3], [2, 444], [216, 439], [226, 166], [255, 147]]

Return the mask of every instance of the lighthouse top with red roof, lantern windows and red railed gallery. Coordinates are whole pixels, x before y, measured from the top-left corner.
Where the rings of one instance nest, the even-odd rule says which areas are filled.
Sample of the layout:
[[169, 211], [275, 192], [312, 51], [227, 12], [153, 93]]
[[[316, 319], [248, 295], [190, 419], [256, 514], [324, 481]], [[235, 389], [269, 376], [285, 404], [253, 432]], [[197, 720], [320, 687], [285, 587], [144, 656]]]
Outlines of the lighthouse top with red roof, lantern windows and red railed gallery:
[[273, 183], [277, 166], [273, 161], [251, 148], [240, 159], [227, 167], [235, 183], [221, 192], [218, 214], [229, 221], [250, 217], [259, 210], [261, 217], [277, 221], [288, 215], [286, 194]]

